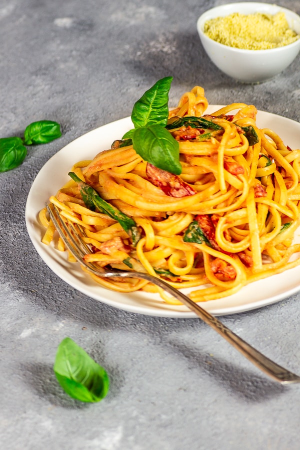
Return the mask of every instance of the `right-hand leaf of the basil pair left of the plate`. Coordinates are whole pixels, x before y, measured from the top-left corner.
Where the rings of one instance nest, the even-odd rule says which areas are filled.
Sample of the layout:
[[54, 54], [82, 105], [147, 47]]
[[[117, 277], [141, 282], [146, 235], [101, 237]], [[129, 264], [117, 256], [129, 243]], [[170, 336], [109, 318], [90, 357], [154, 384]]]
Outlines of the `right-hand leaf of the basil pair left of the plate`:
[[24, 144], [47, 143], [61, 136], [60, 125], [52, 120], [39, 120], [30, 123], [24, 131]]

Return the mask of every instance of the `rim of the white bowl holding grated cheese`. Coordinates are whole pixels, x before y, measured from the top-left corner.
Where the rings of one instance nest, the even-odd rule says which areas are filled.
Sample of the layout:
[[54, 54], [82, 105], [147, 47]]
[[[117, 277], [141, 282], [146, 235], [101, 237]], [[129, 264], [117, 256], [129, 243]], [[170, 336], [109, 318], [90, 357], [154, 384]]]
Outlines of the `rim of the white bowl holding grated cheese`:
[[[288, 14], [291, 14], [291, 15], [294, 17], [294, 19], [297, 20], [297, 21], [299, 22], [299, 26], [300, 26], [300, 15], [297, 14], [295, 11], [292, 11], [291, 9], [285, 8], [285, 7], [280, 6], [280, 5], [278, 5], [278, 4], [275, 4], [275, 3], [264, 3], [264, 2], [260, 2], [260, 1], [237, 1], [237, 2], [234, 2], [234, 3], [224, 3], [224, 4], [220, 4], [220, 5], [218, 5], [218, 6], [214, 6], [213, 8], [206, 9], [206, 10], [198, 17], [197, 22], [196, 22], [196, 24], [197, 24], [197, 31], [198, 31], [198, 34], [200, 35], [200, 37], [203, 38], [203, 39], [206, 39], [207, 41], [214, 42], [214, 44], [220, 46], [220, 48], [224, 48], [224, 47], [225, 47], [226, 49], [230, 48], [231, 51], [235, 51], [236, 53], [244, 53], [244, 52], [246, 52], [246, 53], [248, 53], [248, 54], [251, 54], [251, 53], [255, 53], [255, 54], [257, 54], [257, 53], [263, 54], [263, 53], [265, 53], [265, 52], [272, 52], [272, 53], [275, 53], [275, 52], [278, 52], [278, 51], [283, 51], [284, 48], [291, 48], [291, 47], [297, 47], [297, 46], [300, 46], [300, 32], [297, 33], [297, 34], [299, 35], [299, 37], [298, 37], [298, 39], [295, 40], [294, 42], [291, 42], [291, 43], [286, 44], [286, 45], [281, 45], [280, 47], [266, 48], [266, 49], [263, 49], [263, 50], [250, 50], [250, 49], [247, 49], [247, 48], [231, 47], [230, 45], [222, 44], [222, 43], [220, 43], [220, 42], [218, 42], [218, 41], [216, 41], [216, 40], [214, 40], [214, 39], [211, 39], [211, 37], [208, 37], [208, 36], [204, 33], [204, 31], [203, 31], [203, 29], [202, 29], [202, 25], [204, 25], [205, 21], [209, 20], [209, 18], [205, 18], [205, 16], [206, 16], [206, 15], [209, 15], [209, 13], [210, 13], [211, 11], [216, 11], [216, 10], [222, 11], [222, 10], [226, 10], [226, 8], [229, 8], [230, 6], [234, 6], [234, 7], [235, 7], [236, 5], [245, 5], [245, 6], [247, 6], [247, 7], [248, 7], [249, 5], [250, 5], [250, 6], [253, 6], [253, 7], [257, 6], [258, 8], [261, 8], [261, 9], [262, 9], [263, 6], [267, 6], [267, 7], [269, 7], [270, 9], [273, 9], [273, 10], [274, 10], [274, 9], [278, 9], [277, 12], [279, 12], [279, 10], [280, 10], [280, 11], [282, 11], [282, 12], [287, 12]], [[238, 12], [238, 11], [228, 12], [227, 14], [224, 14], [223, 17], [225, 17], [226, 15], [232, 14], [233, 12]], [[259, 12], [259, 10], [256, 11], [256, 10], [253, 9], [253, 13], [254, 13], [254, 12]], [[251, 12], [249, 12], [248, 14], [251, 14]], [[216, 16], [215, 16], [215, 17], [216, 17]], [[214, 17], [210, 17], [210, 18], [214, 18]]]

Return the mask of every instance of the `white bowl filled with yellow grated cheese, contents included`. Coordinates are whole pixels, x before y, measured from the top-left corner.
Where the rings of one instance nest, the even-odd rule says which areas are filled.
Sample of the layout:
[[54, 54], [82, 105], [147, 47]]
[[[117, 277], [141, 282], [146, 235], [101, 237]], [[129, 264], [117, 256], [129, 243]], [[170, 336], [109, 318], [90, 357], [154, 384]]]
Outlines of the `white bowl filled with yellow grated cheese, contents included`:
[[268, 80], [300, 50], [300, 16], [276, 4], [227, 3], [205, 11], [197, 31], [211, 61], [245, 83]]

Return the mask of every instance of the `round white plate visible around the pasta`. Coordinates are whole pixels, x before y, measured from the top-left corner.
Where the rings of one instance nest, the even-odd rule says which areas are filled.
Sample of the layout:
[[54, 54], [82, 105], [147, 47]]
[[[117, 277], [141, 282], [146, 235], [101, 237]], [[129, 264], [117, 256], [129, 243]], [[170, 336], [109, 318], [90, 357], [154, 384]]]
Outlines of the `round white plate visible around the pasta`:
[[[217, 110], [220, 105], [209, 105], [207, 113]], [[298, 148], [300, 143], [300, 123], [269, 112], [258, 111], [257, 124], [260, 128], [271, 128], [279, 134], [285, 145]], [[194, 317], [185, 306], [168, 305], [157, 294], [144, 292], [119, 293], [101, 287], [86, 275], [77, 263], [69, 263], [66, 254], [52, 246], [41, 243], [44, 229], [39, 224], [37, 214], [45, 201], [68, 180], [68, 171], [73, 163], [82, 159], [92, 159], [100, 150], [110, 148], [114, 139], [121, 138], [132, 127], [130, 117], [100, 126], [78, 137], [53, 155], [40, 169], [30, 188], [25, 219], [29, 236], [40, 257], [60, 278], [73, 288], [91, 298], [131, 312], [161, 317]], [[295, 240], [300, 242], [300, 230]], [[232, 314], [258, 308], [281, 300], [300, 290], [300, 266], [284, 273], [255, 281], [243, 287], [234, 295], [201, 303], [215, 315]]]

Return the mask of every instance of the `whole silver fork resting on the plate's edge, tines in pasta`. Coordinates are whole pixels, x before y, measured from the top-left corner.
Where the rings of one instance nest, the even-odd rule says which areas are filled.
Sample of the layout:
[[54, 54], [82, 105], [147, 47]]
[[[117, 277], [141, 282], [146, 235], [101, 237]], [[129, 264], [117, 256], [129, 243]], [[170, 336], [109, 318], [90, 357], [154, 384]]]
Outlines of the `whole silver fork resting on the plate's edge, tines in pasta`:
[[233, 331], [231, 331], [227, 326], [225, 326], [216, 317], [211, 315], [198, 303], [194, 303], [189, 297], [184, 295], [179, 290], [172, 287], [166, 281], [152, 276], [148, 273], [129, 271], [129, 270], [104, 270], [95, 263], [86, 262], [83, 259], [84, 254], [90, 253], [90, 249], [82, 241], [83, 230], [79, 225], [74, 224], [70, 221], [65, 222], [60, 214], [57, 207], [52, 203], [46, 203], [49, 216], [57, 229], [61, 239], [65, 243], [66, 247], [73, 254], [73, 256], [80, 262], [81, 265], [86, 267], [92, 273], [103, 277], [121, 276], [121, 277], [131, 277], [139, 278], [150, 281], [153, 284], [164, 289], [169, 294], [173, 295], [183, 304], [185, 304], [191, 311], [198, 315], [205, 323], [211, 326], [215, 331], [217, 331], [222, 337], [224, 337], [233, 347], [235, 347], [240, 353], [242, 353], [249, 361], [256, 365], [260, 370], [266, 373], [268, 376], [278, 381], [281, 384], [290, 384], [300, 382], [300, 376], [295, 373], [290, 372], [284, 367], [278, 365], [276, 362], [272, 361], [260, 351], [253, 348], [242, 338], [237, 336]]

